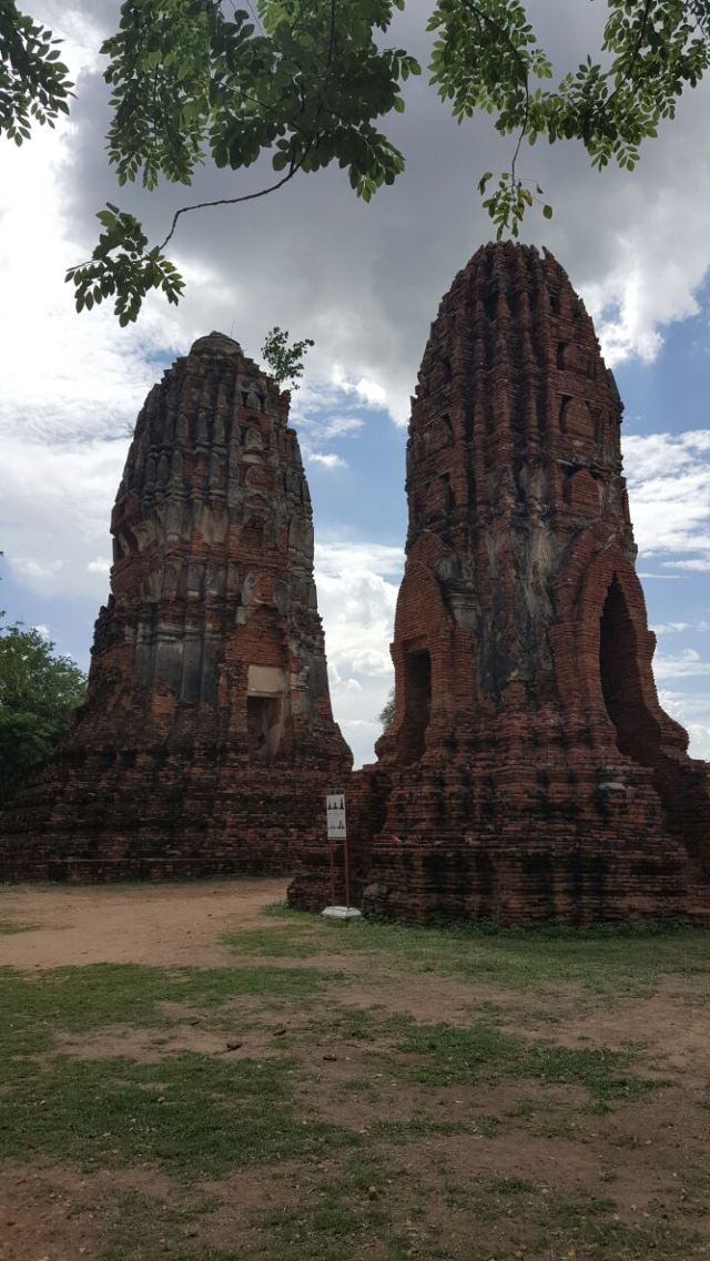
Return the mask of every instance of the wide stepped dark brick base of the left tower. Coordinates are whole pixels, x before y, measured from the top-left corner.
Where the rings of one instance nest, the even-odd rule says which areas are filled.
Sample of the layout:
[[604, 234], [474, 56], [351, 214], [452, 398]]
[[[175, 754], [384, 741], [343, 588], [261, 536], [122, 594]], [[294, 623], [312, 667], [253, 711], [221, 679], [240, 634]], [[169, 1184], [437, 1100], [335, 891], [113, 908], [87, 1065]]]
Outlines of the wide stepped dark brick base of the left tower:
[[[153, 764], [151, 764], [153, 763]], [[87, 768], [91, 770], [91, 767]], [[40, 782], [10, 812], [0, 841], [5, 880], [183, 880], [207, 875], [288, 875], [305, 837], [323, 835], [323, 770], [259, 773], [170, 768], [148, 757], [107, 776]], [[79, 820], [79, 822], [77, 822]], [[26, 844], [24, 844], [26, 840]]]

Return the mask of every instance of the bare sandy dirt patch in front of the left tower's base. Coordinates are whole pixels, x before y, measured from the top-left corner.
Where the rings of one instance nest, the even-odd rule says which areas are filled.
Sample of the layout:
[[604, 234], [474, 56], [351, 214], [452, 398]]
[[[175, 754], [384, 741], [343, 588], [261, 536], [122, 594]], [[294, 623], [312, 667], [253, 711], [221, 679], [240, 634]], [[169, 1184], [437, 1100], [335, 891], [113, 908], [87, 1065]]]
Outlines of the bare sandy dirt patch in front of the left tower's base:
[[[260, 922], [281, 902], [286, 880], [213, 880], [185, 885], [0, 889], [0, 921], [32, 924], [0, 936], [0, 965], [66, 967], [86, 963], [233, 963], [222, 933]], [[262, 922], [262, 921], [261, 921]]]

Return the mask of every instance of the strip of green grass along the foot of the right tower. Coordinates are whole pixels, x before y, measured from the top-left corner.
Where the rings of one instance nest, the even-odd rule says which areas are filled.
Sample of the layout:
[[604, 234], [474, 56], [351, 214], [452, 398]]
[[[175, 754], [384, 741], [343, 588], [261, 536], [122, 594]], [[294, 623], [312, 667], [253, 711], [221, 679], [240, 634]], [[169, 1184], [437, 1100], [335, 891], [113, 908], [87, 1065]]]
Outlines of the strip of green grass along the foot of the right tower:
[[329, 924], [284, 904], [266, 908], [265, 915], [270, 923], [222, 939], [242, 956], [361, 956], [368, 967], [376, 962], [390, 971], [404, 967], [525, 991], [575, 985], [591, 994], [646, 995], [666, 976], [689, 979], [710, 967], [710, 933], [673, 924], [551, 926], [522, 933], [488, 924]]

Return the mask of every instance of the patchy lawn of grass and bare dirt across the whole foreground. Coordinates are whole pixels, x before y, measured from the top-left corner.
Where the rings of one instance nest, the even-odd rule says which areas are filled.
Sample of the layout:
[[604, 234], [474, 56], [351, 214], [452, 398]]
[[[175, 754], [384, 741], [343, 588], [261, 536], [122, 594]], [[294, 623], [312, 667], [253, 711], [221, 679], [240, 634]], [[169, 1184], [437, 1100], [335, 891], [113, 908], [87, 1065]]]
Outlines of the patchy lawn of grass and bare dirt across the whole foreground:
[[219, 966], [0, 968], [3, 1261], [710, 1258], [710, 934], [262, 900]]

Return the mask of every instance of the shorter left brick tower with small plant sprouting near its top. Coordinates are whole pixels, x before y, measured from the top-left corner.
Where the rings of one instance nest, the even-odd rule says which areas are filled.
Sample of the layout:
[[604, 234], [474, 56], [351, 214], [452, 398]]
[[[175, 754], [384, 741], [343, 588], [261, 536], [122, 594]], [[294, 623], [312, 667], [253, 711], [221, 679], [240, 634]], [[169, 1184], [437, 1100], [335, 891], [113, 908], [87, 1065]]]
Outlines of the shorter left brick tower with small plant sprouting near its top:
[[281, 393], [236, 342], [148, 396], [113, 509], [88, 697], [0, 816], [0, 878], [286, 871], [352, 758], [330, 711], [313, 526]]

